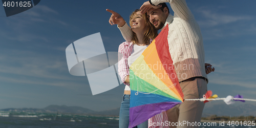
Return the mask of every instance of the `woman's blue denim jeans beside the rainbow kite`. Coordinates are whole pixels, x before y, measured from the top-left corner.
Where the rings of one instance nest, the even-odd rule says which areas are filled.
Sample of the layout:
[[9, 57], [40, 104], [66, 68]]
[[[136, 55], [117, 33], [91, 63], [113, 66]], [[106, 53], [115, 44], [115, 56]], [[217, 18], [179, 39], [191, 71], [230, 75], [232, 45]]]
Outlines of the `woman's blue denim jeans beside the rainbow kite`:
[[[123, 95], [123, 101], [119, 113], [119, 128], [129, 127], [129, 113], [130, 112], [130, 95]], [[147, 128], [147, 121], [135, 126], [134, 128]]]

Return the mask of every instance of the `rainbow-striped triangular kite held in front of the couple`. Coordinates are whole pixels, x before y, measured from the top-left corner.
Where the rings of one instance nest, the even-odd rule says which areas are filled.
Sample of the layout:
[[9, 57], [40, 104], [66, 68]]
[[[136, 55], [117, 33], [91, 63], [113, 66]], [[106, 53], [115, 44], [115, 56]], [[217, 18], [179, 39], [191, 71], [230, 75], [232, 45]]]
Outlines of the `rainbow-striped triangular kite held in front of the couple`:
[[170, 57], [168, 25], [130, 67], [130, 124], [134, 127], [183, 102]]

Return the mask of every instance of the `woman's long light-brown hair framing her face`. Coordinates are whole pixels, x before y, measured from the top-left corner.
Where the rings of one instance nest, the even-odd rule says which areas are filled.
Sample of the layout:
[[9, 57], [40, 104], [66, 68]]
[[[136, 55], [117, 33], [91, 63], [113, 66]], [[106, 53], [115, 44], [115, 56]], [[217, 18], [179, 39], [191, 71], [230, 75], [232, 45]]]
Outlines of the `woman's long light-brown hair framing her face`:
[[[132, 19], [137, 16], [136, 12], [140, 11], [139, 9], [136, 9], [131, 15], [130, 15], [130, 26], [132, 27]], [[142, 18], [145, 20], [145, 24], [146, 24], [146, 30], [144, 32], [144, 36], [143, 36], [143, 44], [145, 45], [149, 45], [150, 44], [150, 39], [155, 39], [158, 35], [157, 30], [155, 29], [155, 27], [150, 23], [150, 20], [147, 18], [146, 16], [147, 14], [143, 14]], [[138, 45], [138, 38], [136, 36], [136, 34], [133, 32], [133, 38], [132, 38], [133, 44]]]

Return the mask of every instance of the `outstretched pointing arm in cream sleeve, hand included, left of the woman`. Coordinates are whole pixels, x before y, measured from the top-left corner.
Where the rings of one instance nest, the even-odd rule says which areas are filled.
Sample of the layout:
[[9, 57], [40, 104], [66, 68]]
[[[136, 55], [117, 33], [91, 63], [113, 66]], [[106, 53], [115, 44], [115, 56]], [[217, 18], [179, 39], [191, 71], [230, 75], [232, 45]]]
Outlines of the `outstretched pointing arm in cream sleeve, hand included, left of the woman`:
[[123, 38], [127, 41], [127, 42], [131, 42], [132, 38], [133, 38], [133, 31], [131, 30], [131, 28], [125, 23], [123, 17], [110, 10], [110, 9], [106, 9], [106, 11], [112, 13], [109, 23], [110, 25], [115, 25], [117, 24], [117, 27], [119, 28]]

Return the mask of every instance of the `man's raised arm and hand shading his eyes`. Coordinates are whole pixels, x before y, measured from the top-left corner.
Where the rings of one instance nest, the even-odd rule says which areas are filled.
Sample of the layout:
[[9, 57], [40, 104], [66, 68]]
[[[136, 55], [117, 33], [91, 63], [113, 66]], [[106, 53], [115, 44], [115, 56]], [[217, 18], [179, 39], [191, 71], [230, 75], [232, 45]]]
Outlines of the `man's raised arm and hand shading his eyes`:
[[145, 2], [141, 7], [141, 13], [145, 13], [146, 10], [148, 11], [151, 8], [160, 8], [161, 6], [153, 6], [150, 4], [150, 2], [153, 5], [159, 5], [160, 3], [169, 3], [170, 7], [172, 7], [174, 11], [174, 15], [178, 16], [184, 20], [191, 19], [194, 17], [194, 15], [191, 13], [190, 9], [187, 7], [185, 0], [151, 0], [148, 2]]

